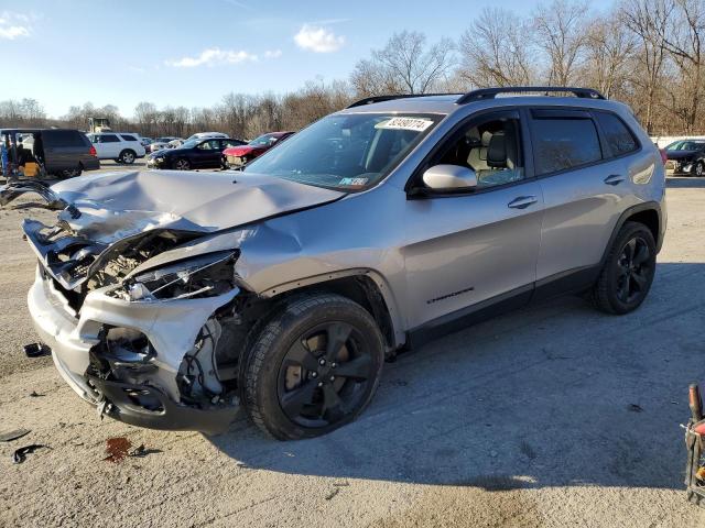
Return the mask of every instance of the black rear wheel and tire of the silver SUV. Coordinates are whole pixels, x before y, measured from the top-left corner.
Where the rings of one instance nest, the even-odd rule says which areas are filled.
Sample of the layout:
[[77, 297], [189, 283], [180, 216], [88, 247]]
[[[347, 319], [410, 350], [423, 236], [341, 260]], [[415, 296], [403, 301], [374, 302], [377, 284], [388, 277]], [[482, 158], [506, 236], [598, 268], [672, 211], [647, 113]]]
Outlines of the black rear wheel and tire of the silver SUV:
[[651, 288], [655, 265], [657, 248], [649, 228], [639, 222], [626, 222], [593, 287], [595, 307], [615, 315], [639, 308]]

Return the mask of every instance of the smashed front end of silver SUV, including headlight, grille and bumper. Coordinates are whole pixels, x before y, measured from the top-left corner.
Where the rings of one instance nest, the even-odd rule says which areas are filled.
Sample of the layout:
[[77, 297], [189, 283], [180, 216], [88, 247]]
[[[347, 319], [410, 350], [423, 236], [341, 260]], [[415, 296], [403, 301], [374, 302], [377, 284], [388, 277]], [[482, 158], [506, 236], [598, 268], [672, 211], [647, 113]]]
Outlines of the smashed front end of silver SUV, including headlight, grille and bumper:
[[237, 250], [150, 268], [203, 233], [153, 229], [105, 243], [61, 220], [23, 230], [40, 260], [32, 318], [84, 399], [140, 427], [227, 429], [239, 409]]

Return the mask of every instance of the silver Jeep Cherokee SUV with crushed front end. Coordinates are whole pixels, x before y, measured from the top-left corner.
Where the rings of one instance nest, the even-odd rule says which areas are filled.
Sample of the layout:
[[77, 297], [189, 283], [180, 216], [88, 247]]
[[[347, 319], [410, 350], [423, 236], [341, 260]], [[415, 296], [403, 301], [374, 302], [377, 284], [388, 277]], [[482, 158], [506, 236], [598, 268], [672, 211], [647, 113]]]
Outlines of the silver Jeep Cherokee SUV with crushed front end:
[[665, 229], [658, 150], [582, 88], [371, 98], [242, 172], [1, 198], [30, 190], [61, 210], [23, 229], [66, 382], [128, 424], [216, 432], [246, 411], [279, 439], [349, 422], [386, 359], [501, 310], [563, 293], [634, 310]]

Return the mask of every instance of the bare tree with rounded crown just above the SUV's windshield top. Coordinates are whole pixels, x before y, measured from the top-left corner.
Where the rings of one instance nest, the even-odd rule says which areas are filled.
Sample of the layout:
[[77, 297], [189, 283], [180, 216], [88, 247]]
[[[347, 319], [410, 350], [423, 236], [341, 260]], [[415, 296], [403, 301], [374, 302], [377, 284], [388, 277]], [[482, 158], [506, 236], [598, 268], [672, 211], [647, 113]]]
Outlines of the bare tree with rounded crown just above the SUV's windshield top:
[[394, 33], [382, 50], [355, 66], [350, 80], [361, 96], [426, 94], [451, 70], [453, 50], [448, 38], [426, 48], [423, 33]]

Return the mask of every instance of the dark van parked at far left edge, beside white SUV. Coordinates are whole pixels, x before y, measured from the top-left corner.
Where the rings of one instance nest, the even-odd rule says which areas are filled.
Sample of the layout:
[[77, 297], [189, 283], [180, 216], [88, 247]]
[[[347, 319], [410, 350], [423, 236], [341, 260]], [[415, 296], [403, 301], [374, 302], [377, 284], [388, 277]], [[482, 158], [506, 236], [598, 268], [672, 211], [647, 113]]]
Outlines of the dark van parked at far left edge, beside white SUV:
[[[86, 134], [73, 129], [2, 129], [0, 141], [9, 148], [11, 135], [23, 141], [20, 158], [39, 163], [47, 174], [59, 177], [79, 176], [84, 170], [100, 168], [96, 148]], [[22, 160], [19, 160], [20, 162]]]

